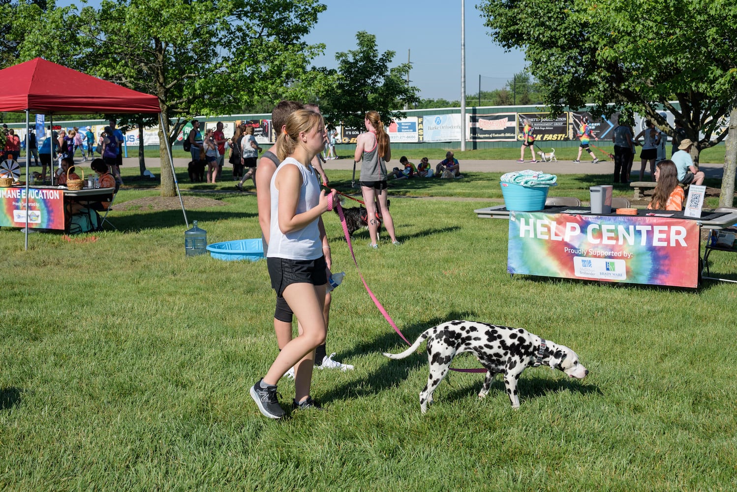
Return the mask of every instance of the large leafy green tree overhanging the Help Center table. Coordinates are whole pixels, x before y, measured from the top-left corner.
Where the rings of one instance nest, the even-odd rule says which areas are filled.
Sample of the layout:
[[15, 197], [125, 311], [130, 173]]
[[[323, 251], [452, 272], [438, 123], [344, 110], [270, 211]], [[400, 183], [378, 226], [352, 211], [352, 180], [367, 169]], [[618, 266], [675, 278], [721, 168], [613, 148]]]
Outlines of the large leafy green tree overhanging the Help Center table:
[[[673, 136], [657, 113], [666, 108], [696, 142], [696, 161], [727, 136], [722, 119], [737, 94], [732, 2], [548, 0], [535, 3], [536, 15], [517, 0], [484, 0], [480, 7], [497, 43], [524, 49], [549, 88], [545, 103], [553, 112], [590, 98], [599, 113], [631, 108]], [[720, 204], [733, 201], [735, 161], [728, 152]]]

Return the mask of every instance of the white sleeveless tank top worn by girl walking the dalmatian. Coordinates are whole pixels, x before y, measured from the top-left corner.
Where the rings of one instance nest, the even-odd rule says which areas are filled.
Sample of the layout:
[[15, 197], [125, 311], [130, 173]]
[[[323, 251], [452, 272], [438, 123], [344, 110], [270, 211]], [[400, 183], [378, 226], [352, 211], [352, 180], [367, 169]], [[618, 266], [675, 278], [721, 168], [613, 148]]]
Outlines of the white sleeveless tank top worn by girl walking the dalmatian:
[[266, 256], [268, 258], [284, 258], [290, 260], [314, 260], [322, 256], [322, 242], [320, 241], [320, 229], [318, 219], [313, 220], [298, 231], [287, 234], [279, 229], [279, 190], [276, 189], [276, 175], [287, 166], [296, 166], [302, 177], [302, 185], [299, 188], [299, 200], [297, 201], [297, 214], [314, 208], [320, 203], [320, 182], [317, 173], [312, 166], [304, 166], [295, 158], [287, 157], [282, 164], [276, 168], [271, 178], [271, 223], [269, 228], [269, 248]]

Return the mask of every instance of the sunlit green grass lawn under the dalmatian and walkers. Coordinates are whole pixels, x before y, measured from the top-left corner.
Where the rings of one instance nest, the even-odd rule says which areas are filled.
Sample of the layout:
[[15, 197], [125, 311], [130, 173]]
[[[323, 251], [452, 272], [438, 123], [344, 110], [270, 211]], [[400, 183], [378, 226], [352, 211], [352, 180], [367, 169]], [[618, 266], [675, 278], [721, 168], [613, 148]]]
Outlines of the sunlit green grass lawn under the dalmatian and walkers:
[[[331, 178], [345, 185], [350, 176]], [[583, 198], [588, 179], [561, 176], [556, 194]], [[354, 235], [368, 285], [405, 335], [456, 318], [520, 326], [573, 348], [587, 379], [528, 368], [512, 410], [498, 376], [479, 401], [483, 375], [453, 373], [422, 415], [427, 358], [381, 355], [403, 342], [366, 294], [330, 213], [334, 270], [347, 275], [327, 348], [355, 370], [315, 371], [312, 396], [325, 412], [270, 421], [248, 395], [277, 351], [265, 261], [186, 257], [181, 210], [119, 207], [110, 214], [117, 231], [71, 241], [34, 233], [27, 251], [22, 233], [1, 228], [0, 489], [737, 488], [733, 284], [510, 278], [508, 223], [478, 219], [473, 209], [485, 202], [402, 198], [490, 205], [500, 200], [497, 175], [410, 184], [391, 189], [401, 246], [385, 239], [369, 250], [368, 233]], [[209, 242], [260, 236], [254, 194], [183, 187], [222, 204], [187, 211]], [[116, 204], [156, 195], [123, 189]], [[713, 272], [737, 278], [737, 255], [710, 260]], [[453, 365], [478, 362], [458, 356]], [[279, 385], [284, 407], [293, 390]]]

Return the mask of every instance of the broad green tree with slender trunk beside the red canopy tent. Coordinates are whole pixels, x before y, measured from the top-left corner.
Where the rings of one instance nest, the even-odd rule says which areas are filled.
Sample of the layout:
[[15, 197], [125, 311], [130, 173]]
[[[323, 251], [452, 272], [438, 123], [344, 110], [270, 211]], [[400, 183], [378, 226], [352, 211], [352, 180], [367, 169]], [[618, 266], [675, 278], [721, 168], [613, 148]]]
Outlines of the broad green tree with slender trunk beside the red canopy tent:
[[[301, 38], [324, 8], [318, 0], [103, 0], [99, 9], [65, 10], [63, 25], [74, 26], [69, 30], [76, 36], [49, 59], [83, 64], [90, 74], [158, 96], [165, 116], [159, 124], [161, 196], [172, 197], [164, 135], [172, 144], [197, 114], [307, 94], [309, 81], [319, 77], [308, 77], [307, 65], [324, 46]], [[46, 18], [58, 26], [52, 22], [58, 15], [59, 9], [35, 12], [39, 28], [21, 43], [21, 56], [40, 55], [47, 46], [41, 41], [69, 35], [44, 27]]]

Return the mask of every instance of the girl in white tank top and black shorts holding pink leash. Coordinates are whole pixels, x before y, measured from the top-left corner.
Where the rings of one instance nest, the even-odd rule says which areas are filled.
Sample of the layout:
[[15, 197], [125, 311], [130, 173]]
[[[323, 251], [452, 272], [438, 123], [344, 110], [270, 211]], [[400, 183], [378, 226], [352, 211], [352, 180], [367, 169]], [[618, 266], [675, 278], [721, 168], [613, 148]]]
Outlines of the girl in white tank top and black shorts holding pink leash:
[[[310, 166], [312, 158], [324, 147], [325, 127], [318, 113], [297, 110], [287, 118], [286, 130], [275, 146], [276, 155], [284, 160], [270, 183], [267, 264], [272, 287], [287, 301], [302, 329], [298, 337], [284, 345], [266, 376], [251, 387], [256, 406], [269, 418], [284, 415], [276, 398], [276, 384], [290, 368], [295, 368], [296, 376], [294, 405], [312, 405], [310, 382], [315, 348], [326, 336], [321, 215], [328, 210], [329, 197], [320, 191], [315, 170]], [[330, 199], [335, 200], [335, 190]]]

